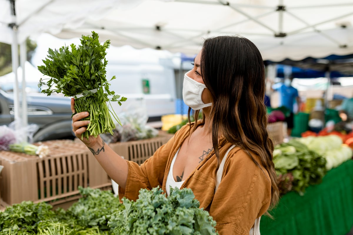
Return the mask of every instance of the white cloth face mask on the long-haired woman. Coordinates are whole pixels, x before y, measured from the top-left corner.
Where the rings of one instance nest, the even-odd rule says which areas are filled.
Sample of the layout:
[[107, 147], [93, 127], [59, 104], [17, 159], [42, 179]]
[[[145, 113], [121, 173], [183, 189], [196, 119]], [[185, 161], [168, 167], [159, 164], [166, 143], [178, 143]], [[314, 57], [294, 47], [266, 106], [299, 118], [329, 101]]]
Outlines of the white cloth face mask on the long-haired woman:
[[202, 101], [201, 95], [205, 88], [205, 84], [197, 82], [185, 74], [183, 82], [184, 103], [193, 110], [200, 110], [211, 106], [212, 103], [205, 104]]

